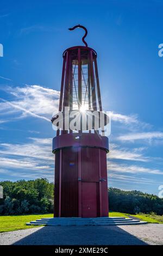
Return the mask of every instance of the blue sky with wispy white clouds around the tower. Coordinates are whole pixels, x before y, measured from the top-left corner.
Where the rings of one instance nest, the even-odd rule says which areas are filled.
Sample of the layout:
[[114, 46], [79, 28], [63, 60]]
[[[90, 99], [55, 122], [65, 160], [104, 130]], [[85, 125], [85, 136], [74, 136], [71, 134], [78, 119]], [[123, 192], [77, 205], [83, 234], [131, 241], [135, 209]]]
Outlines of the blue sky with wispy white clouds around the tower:
[[53, 181], [62, 52], [98, 54], [103, 108], [112, 112], [108, 185], [158, 194], [163, 178], [162, 1], [5, 1], [0, 10], [0, 180]]

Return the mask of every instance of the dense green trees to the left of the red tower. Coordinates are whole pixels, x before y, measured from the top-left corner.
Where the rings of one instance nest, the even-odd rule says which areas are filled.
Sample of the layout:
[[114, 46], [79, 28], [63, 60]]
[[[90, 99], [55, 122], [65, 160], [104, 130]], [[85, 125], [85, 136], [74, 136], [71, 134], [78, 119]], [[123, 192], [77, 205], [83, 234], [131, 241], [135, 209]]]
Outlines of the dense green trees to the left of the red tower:
[[53, 212], [54, 184], [47, 179], [2, 181], [0, 215]]

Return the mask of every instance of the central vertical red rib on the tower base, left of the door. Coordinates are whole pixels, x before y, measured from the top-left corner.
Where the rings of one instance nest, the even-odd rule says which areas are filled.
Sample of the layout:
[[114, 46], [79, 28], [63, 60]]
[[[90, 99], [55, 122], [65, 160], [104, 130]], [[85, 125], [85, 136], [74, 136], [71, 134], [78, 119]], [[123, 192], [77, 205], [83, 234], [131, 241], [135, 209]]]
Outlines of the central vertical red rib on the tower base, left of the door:
[[78, 153], [78, 216], [82, 217], [82, 148]]

